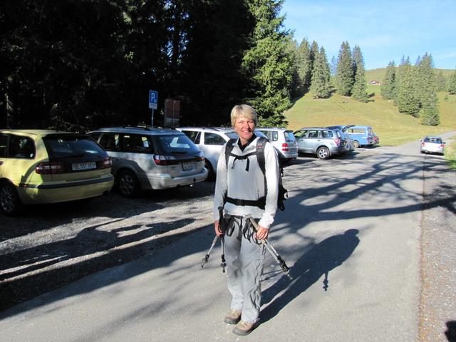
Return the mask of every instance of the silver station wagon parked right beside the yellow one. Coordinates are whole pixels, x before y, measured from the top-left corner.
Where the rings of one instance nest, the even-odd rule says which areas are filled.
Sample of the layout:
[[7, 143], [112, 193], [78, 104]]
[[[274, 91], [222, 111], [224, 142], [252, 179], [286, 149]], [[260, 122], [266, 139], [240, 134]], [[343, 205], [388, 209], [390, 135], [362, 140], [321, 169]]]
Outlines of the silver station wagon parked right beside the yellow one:
[[125, 197], [141, 190], [194, 185], [207, 178], [204, 155], [182, 132], [113, 127], [88, 133], [113, 160], [115, 185]]

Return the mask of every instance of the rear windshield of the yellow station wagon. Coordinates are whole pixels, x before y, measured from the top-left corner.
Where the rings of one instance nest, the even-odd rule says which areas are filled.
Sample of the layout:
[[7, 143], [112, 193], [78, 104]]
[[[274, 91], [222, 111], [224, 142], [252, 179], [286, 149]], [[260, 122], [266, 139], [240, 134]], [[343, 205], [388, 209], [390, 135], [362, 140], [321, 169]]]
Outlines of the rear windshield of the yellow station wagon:
[[49, 159], [106, 155], [105, 150], [87, 135], [46, 135], [43, 141], [44, 145], [46, 145]]

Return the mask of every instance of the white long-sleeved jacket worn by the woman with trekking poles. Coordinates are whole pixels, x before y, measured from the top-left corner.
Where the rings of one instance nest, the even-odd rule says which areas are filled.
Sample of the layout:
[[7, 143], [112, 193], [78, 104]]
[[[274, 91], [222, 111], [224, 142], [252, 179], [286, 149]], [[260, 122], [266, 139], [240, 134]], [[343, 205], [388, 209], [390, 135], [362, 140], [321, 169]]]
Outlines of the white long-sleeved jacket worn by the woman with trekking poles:
[[[232, 150], [233, 155], [247, 155], [254, 152], [257, 148], [257, 140], [252, 142], [242, 151], [239, 148], [239, 139], [234, 142]], [[215, 182], [214, 194], [214, 221], [219, 219], [219, 207], [223, 207], [223, 198], [228, 190], [228, 196], [234, 199], [256, 200], [264, 196], [264, 175], [261, 171], [257, 155], [251, 155], [244, 160], [235, 160], [230, 156], [228, 159], [228, 167], [225, 162], [225, 149], [227, 144], [222, 148], [222, 152], [217, 162], [217, 179]], [[234, 163], [234, 167], [233, 167]], [[246, 171], [247, 163], [249, 170]], [[241, 206], [232, 203], [224, 204], [224, 212], [242, 216], [252, 214], [252, 217], [260, 219], [258, 224], [262, 227], [269, 228], [274, 222], [274, 215], [277, 210], [277, 195], [279, 192], [279, 161], [276, 151], [270, 142], [264, 145], [264, 165], [266, 170], [266, 205], [263, 209], [254, 206]]]

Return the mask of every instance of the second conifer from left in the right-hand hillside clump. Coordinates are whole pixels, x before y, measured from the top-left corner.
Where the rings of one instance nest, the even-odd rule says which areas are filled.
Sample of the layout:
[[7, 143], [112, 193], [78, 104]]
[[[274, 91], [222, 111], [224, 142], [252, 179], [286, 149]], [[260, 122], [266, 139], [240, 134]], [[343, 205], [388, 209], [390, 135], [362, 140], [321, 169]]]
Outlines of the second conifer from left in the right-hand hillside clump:
[[400, 113], [418, 117], [420, 102], [415, 96], [415, 77], [409, 59], [404, 59], [398, 68], [398, 83], [395, 104]]

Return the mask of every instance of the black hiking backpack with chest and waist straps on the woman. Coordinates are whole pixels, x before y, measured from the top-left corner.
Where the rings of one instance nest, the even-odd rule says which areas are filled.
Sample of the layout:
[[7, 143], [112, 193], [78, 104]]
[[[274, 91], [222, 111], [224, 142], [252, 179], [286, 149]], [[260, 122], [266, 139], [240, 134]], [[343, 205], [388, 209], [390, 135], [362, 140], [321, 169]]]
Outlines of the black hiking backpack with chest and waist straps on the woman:
[[[261, 169], [261, 172], [263, 172], [264, 176], [264, 190], [267, 192], [267, 187], [266, 187], [266, 162], [264, 160], [264, 145], [266, 144], [267, 139], [264, 137], [260, 137], [257, 140], [257, 148], [255, 152], [248, 153], [247, 155], [234, 155], [232, 154], [232, 150], [234, 147], [234, 143], [237, 141], [237, 139], [230, 139], [227, 142], [227, 147], [225, 147], [225, 165], [228, 167], [228, 159], [229, 156], [231, 155], [232, 157], [235, 157], [237, 159], [247, 159], [250, 155], [257, 155], [257, 161], [259, 168]], [[248, 167], [248, 164], [247, 164]], [[285, 210], [285, 204], [284, 201], [286, 200], [285, 197], [288, 197], [288, 191], [284, 188], [284, 185], [282, 184], [282, 176], [284, 175], [284, 168], [281, 166], [281, 163], [279, 162], [279, 193], [277, 195], [277, 208], [281, 209], [282, 211]], [[225, 202], [230, 202], [234, 203], [237, 205], [252, 205], [255, 207], [259, 207], [260, 209], [264, 209], [264, 205], [266, 204], [266, 194], [264, 194], [264, 197], [261, 197], [257, 200], [246, 200], [246, 199], [233, 199], [231, 197], [227, 197], [225, 195]]]

